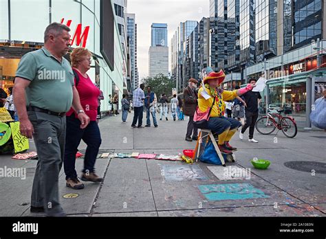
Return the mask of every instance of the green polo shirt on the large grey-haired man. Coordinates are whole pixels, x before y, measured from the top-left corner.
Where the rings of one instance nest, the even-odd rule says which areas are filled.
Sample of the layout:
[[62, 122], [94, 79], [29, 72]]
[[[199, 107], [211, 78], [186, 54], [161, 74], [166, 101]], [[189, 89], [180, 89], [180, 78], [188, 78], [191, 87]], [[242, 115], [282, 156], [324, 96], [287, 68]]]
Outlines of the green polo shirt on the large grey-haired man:
[[54, 112], [71, 108], [74, 72], [65, 58], [59, 62], [45, 47], [29, 52], [21, 58], [16, 77], [31, 81], [26, 89], [28, 106]]

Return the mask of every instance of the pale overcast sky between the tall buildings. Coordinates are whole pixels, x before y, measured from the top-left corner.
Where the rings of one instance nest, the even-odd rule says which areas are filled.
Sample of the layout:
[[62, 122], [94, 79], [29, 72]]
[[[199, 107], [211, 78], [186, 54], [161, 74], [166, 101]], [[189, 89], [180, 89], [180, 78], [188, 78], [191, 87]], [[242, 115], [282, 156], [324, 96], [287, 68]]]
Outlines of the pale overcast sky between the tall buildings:
[[[209, 0], [128, 0], [127, 12], [135, 14], [137, 23], [138, 71], [140, 79], [149, 75], [151, 24], [168, 24], [168, 46], [180, 22], [200, 21], [209, 16]], [[170, 54], [170, 49], [169, 49]], [[169, 56], [169, 71], [171, 71]]]

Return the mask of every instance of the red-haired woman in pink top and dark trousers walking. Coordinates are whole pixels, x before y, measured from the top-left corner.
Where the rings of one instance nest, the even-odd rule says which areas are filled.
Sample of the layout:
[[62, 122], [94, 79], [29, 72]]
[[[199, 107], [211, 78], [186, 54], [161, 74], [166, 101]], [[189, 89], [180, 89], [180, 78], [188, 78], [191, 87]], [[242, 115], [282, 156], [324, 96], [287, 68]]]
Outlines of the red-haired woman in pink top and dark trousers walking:
[[[84, 184], [77, 178], [75, 170], [76, 152], [80, 140], [83, 139], [87, 144], [84, 159], [82, 181], [91, 181], [100, 183], [102, 178], [94, 172], [94, 165], [98, 150], [101, 144], [100, 129], [96, 122], [97, 109], [98, 109], [98, 96], [100, 89], [98, 89], [87, 75], [87, 71], [91, 68], [91, 52], [83, 47], [74, 49], [70, 56], [72, 60], [72, 69], [75, 74], [75, 86], [79, 93], [80, 104], [83, 106], [84, 111], [75, 113], [70, 109], [67, 113], [67, 130], [65, 139], [65, 159], [63, 166], [66, 175], [66, 185], [73, 189], [83, 189]], [[85, 113], [89, 116], [90, 122], [84, 129], [80, 128], [80, 122], [77, 115]]]

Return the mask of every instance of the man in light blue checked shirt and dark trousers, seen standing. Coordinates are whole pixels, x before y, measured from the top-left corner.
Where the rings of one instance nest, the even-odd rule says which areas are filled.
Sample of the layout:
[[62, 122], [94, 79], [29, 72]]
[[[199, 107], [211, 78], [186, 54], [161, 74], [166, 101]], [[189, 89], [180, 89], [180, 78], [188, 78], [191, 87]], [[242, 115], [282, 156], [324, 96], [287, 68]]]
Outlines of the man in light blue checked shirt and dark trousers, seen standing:
[[[131, 127], [133, 128], [144, 128], [142, 126], [142, 113], [143, 113], [143, 107], [144, 107], [144, 84], [140, 84], [140, 87], [135, 89], [133, 91], [133, 124], [131, 124]], [[136, 126], [138, 120], [138, 126]]]

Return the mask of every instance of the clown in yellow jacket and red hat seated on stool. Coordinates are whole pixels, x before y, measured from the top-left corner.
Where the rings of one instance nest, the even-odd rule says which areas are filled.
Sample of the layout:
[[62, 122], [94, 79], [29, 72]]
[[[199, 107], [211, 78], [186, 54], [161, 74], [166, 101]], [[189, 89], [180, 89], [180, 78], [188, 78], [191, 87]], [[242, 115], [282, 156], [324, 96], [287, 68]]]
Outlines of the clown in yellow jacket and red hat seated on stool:
[[[204, 73], [204, 86], [198, 91], [198, 107], [202, 112], [206, 112], [213, 105], [208, 121], [208, 129], [212, 130], [214, 135], [218, 135], [219, 150], [226, 154], [232, 155], [232, 151], [237, 150], [230, 146], [229, 141], [235, 134], [241, 123], [235, 119], [224, 117], [226, 111], [225, 101], [233, 100], [239, 95], [251, 91], [255, 84], [248, 84], [246, 88], [236, 89], [234, 91], [224, 91], [220, 88], [224, 81], [224, 71], [218, 69], [217, 72], [207, 67]], [[206, 93], [204, 92], [206, 91]], [[209, 95], [209, 96], [208, 96]], [[205, 96], [205, 97], [204, 97]]]

